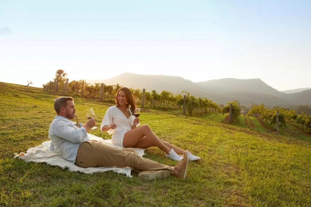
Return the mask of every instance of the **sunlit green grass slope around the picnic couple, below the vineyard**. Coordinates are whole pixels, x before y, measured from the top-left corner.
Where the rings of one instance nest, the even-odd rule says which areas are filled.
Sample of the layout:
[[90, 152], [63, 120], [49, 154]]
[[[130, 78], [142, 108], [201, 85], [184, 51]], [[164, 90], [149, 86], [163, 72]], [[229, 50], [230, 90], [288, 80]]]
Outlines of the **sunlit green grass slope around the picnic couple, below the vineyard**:
[[[142, 124], [202, 158], [189, 163], [186, 180], [142, 182], [135, 173], [133, 178], [74, 173], [13, 159], [14, 152], [48, 140], [58, 95], [5, 83], [0, 83], [0, 94], [0, 206], [310, 206], [310, 137], [228, 125], [219, 121], [222, 114], [210, 121], [150, 110], [141, 113]], [[101, 120], [112, 105], [75, 97], [81, 122], [87, 108]], [[100, 131], [93, 134], [110, 138]], [[146, 153], [146, 158], [176, 164], [155, 147]]]

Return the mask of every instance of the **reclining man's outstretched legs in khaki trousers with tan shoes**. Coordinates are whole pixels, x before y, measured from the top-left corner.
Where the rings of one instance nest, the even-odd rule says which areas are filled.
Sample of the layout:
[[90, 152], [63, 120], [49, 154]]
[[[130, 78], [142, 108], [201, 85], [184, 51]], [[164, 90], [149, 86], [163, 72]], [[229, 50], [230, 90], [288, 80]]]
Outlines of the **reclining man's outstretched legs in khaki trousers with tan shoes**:
[[188, 150], [175, 167], [142, 158], [137, 152], [129, 152], [133, 150], [119, 150], [98, 142], [84, 142], [78, 149], [76, 165], [82, 168], [101, 166], [130, 167], [141, 170], [138, 172], [138, 177], [142, 180], [165, 178], [169, 174], [185, 179], [188, 168]]

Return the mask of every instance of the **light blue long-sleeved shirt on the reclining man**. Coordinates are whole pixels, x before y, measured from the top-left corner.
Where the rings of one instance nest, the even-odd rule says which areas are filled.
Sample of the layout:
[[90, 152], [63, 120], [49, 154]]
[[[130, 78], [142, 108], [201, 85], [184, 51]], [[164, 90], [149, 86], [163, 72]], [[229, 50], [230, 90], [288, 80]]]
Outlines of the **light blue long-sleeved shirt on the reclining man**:
[[[79, 123], [79, 127], [82, 123]], [[55, 116], [49, 128], [49, 138], [52, 141], [55, 152], [73, 164], [76, 161], [78, 148], [82, 142], [90, 141], [84, 127], [78, 128], [76, 122], [66, 117]]]

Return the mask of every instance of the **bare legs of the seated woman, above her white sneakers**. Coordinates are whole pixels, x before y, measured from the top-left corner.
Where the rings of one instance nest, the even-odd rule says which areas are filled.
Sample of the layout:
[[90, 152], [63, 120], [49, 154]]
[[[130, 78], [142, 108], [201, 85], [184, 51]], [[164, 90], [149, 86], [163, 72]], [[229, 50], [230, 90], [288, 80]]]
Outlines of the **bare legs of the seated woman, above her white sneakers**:
[[[144, 136], [146, 136], [146, 139], [142, 140]], [[140, 140], [142, 140], [142, 143], [138, 144]], [[169, 151], [171, 150], [162, 143], [162, 141], [153, 133], [148, 125], [132, 129], [124, 134], [123, 147], [146, 148], [150, 146], [159, 147], [160, 150], [163, 150], [166, 154], [169, 154]]]

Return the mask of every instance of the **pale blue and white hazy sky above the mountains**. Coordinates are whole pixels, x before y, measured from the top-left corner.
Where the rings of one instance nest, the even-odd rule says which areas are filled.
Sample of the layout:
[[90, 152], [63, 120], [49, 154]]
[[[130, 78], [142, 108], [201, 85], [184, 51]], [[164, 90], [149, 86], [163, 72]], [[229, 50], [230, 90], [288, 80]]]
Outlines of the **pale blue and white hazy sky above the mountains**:
[[311, 87], [311, 1], [0, 0], [0, 81], [123, 72]]

